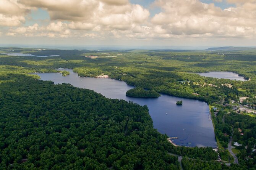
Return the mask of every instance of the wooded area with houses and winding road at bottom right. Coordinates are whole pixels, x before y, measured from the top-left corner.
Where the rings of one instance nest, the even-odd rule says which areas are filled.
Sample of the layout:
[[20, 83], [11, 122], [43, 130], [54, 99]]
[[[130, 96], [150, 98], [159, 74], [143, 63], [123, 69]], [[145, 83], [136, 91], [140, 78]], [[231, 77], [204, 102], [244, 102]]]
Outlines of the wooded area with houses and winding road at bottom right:
[[[256, 168], [256, 115], [245, 114], [232, 111], [228, 106], [218, 106], [222, 108], [217, 112], [216, 117], [212, 114], [215, 124], [215, 136], [220, 146], [227, 148], [230, 136], [233, 143], [238, 142], [242, 146], [236, 146], [238, 162], [241, 168], [254, 170]], [[213, 110], [212, 110], [213, 112]], [[228, 160], [227, 150], [219, 151], [220, 157]]]

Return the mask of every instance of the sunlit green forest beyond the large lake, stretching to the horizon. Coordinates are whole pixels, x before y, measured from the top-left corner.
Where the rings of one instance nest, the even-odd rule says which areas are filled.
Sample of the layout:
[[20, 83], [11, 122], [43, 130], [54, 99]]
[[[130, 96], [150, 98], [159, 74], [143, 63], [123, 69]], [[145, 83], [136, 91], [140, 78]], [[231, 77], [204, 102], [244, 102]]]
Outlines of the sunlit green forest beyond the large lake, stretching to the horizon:
[[[173, 96], [194, 98], [213, 103], [223, 98], [238, 101], [239, 96], [256, 95], [256, 53], [253, 51], [88, 51], [37, 50], [28, 48], [0, 48], [0, 53], [31, 53], [59, 55], [27, 57], [0, 55], [0, 65], [33, 69], [72, 68], [79, 76], [109, 75], [128, 84]], [[110, 53], [108, 57], [103, 53]], [[85, 56], [98, 56], [86, 58]], [[250, 78], [241, 82], [202, 77], [193, 72], [232, 71]], [[188, 81], [182, 83], [181, 81]], [[231, 84], [228, 88], [223, 85]], [[242, 88], [239, 91], [238, 88]]]

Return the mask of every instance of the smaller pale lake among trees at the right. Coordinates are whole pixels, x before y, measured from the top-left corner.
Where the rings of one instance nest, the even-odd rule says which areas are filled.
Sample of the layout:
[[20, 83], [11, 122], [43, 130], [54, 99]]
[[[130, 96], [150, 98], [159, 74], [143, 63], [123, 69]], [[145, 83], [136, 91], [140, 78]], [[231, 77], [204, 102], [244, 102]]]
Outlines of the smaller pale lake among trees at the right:
[[197, 73], [201, 76], [205, 77], [214, 77], [218, 79], [230, 79], [230, 80], [240, 80], [245, 81], [245, 78], [243, 76], [238, 75], [234, 72], [228, 72], [228, 71], [211, 71], [211, 72], [202, 72]]

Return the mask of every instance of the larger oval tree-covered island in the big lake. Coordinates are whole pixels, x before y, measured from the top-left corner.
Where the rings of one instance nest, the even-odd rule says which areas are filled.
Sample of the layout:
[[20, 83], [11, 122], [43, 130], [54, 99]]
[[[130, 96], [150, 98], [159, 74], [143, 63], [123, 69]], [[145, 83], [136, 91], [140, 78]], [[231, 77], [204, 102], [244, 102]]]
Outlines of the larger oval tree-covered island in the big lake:
[[142, 97], [142, 98], [158, 98], [159, 93], [152, 90], [144, 90], [142, 87], [135, 87], [126, 91], [126, 96], [129, 97]]

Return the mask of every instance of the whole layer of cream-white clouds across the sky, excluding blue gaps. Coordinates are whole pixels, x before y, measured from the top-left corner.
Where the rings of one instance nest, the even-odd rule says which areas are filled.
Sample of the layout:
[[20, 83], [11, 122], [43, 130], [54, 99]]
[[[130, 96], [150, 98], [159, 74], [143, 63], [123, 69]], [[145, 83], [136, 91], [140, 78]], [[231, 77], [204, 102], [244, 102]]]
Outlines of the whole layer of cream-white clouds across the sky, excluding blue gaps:
[[[214, 0], [222, 2], [222, 0]], [[150, 12], [129, 0], [0, 0], [0, 25], [9, 36], [86, 38], [254, 37], [256, 0], [225, 0], [221, 9], [200, 0], [155, 0]], [[47, 25], [21, 26], [31, 9], [50, 15]], [[19, 27], [15, 27], [19, 26]]]

